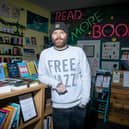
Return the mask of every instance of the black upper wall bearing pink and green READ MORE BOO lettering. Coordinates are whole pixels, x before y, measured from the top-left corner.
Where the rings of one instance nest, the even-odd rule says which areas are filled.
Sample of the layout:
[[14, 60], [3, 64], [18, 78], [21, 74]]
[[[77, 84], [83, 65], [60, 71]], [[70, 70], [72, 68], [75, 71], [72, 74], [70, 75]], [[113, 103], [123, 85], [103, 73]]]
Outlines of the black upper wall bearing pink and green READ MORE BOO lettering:
[[129, 38], [129, 3], [103, 7], [62, 10], [52, 13], [51, 22], [69, 26], [71, 44], [80, 39], [122, 40]]

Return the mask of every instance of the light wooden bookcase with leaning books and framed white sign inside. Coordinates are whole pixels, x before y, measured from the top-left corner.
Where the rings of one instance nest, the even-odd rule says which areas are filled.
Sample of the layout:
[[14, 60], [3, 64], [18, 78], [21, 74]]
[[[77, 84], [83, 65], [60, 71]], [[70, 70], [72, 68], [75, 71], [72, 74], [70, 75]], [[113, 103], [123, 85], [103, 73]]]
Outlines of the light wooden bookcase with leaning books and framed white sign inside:
[[1, 129], [42, 129], [44, 85], [0, 94]]

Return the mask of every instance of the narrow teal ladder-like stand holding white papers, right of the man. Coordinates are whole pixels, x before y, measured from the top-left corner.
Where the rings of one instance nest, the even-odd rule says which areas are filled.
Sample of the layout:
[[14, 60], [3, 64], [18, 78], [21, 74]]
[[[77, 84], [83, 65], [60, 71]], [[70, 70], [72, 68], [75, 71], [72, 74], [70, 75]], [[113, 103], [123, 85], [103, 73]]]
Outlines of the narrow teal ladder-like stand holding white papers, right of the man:
[[107, 70], [98, 70], [95, 77], [92, 100], [93, 110], [98, 113], [98, 117], [106, 123], [109, 120], [110, 107], [110, 88], [111, 72]]

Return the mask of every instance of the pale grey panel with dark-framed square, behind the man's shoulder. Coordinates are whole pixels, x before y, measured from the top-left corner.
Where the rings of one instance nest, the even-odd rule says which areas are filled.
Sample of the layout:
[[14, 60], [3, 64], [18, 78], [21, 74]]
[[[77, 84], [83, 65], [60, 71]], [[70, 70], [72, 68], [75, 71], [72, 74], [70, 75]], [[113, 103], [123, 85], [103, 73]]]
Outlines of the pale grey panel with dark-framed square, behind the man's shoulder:
[[83, 48], [91, 67], [92, 76], [100, 68], [100, 40], [79, 40], [77, 45]]

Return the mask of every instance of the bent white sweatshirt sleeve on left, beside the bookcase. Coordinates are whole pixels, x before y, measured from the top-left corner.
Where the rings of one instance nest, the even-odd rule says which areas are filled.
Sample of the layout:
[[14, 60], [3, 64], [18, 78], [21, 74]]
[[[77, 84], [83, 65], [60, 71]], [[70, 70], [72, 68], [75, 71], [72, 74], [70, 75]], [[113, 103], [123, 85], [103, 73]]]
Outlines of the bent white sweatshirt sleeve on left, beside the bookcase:
[[46, 67], [46, 62], [45, 62], [45, 58], [47, 55], [42, 52], [39, 58], [39, 64], [38, 64], [38, 79], [46, 84], [49, 85], [52, 88], [56, 88], [56, 86], [60, 83], [59, 81], [57, 81], [54, 77], [52, 77], [51, 75], [49, 75], [48, 69]]

